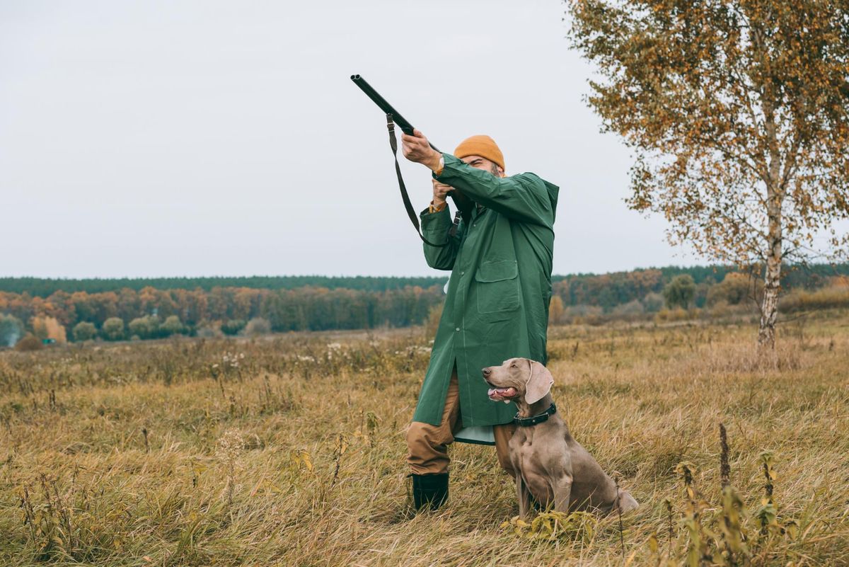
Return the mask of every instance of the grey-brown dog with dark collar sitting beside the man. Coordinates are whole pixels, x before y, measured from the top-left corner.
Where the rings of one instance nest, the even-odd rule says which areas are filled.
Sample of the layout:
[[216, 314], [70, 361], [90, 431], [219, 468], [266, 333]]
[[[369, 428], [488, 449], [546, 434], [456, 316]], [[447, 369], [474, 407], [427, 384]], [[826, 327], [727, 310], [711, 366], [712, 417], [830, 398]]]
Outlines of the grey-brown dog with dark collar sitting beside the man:
[[569, 433], [552, 400], [554, 378], [541, 363], [510, 358], [483, 369], [492, 401], [515, 401], [519, 413], [510, 438], [519, 515], [526, 518], [533, 496], [544, 509], [625, 513], [638, 502], [616, 484]]

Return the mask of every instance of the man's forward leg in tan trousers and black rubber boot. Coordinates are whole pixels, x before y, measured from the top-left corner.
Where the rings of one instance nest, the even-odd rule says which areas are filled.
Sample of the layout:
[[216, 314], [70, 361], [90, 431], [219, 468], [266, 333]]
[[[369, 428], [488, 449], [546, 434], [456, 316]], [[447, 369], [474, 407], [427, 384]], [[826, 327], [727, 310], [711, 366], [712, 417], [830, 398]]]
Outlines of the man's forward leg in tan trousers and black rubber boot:
[[416, 509], [439, 508], [448, 498], [448, 445], [460, 417], [457, 368], [453, 369], [439, 425], [413, 421], [407, 429], [407, 463], [413, 477], [413, 502]]

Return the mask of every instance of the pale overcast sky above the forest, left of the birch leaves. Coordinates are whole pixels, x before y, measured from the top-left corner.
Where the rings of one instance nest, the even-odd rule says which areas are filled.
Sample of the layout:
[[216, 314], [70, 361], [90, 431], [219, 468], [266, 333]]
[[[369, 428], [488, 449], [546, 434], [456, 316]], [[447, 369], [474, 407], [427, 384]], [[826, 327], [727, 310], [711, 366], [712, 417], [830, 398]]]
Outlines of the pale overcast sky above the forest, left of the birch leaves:
[[[629, 211], [564, 5], [0, 1], [0, 275], [430, 275], [362, 74], [560, 186], [554, 272], [700, 263]], [[417, 209], [430, 171], [402, 163]]]

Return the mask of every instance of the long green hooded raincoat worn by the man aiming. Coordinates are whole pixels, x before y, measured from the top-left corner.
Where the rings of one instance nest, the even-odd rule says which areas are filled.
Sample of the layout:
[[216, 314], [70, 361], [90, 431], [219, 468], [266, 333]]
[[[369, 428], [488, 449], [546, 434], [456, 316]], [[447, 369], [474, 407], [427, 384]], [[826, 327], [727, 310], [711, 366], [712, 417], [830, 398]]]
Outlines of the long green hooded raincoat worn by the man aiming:
[[480, 205], [451, 238], [448, 207], [421, 213], [430, 267], [451, 270], [413, 421], [438, 425], [456, 361], [463, 426], [509, 423], [513, 403], [491, 401], [481, 368], [513, 356], [546, 362], [558, 188], [533, 173], [495, 177], [444, 154], [436, 180]]

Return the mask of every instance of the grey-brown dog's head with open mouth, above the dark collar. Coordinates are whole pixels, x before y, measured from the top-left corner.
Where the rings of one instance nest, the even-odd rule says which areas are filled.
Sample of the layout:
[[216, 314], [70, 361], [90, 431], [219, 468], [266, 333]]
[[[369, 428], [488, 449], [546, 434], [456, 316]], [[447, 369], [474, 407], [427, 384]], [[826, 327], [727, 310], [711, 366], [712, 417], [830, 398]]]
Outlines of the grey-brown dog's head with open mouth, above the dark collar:
[[530, 406], [542, 400], [554, 384], [548, 368], [527, 358], [509, 358], [501, 366], [489, 366], [482, 372], [486, 384], [492, 386], [492, 401], [523, 401]]

